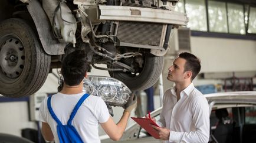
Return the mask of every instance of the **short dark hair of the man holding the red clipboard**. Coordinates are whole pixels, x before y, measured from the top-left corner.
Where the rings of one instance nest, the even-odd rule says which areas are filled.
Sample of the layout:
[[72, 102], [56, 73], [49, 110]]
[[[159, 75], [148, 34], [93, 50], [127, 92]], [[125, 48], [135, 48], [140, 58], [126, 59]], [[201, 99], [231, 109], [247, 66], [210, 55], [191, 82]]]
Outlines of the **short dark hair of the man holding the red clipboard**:
[[186, 60], [184, 72], [189, 70], [192, 71], [192, 76], [191, 76], [191, 81], [192, 81], [193, 79], [195, 79], [195, 77], [198, 75], [199, 71], [201, 70], [201, 61], [198, 59], [198, 57], [188, 52], [180, 53], [179, 57]]

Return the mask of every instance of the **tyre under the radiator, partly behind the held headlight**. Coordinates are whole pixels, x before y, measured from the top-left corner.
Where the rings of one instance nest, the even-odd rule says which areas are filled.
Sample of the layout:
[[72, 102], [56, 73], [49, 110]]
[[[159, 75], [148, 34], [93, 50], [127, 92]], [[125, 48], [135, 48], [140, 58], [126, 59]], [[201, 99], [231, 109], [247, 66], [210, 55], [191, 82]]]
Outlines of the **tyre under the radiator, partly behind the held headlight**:
[[136, 72], [109, 71], [110, 76], [123, 81], [130, 90], [145, 90], [152, 87], [162, 73], [163, 56], [146, 53], [139, 61], [142, 61], [141, 66], [133, 65], [136, 67]]

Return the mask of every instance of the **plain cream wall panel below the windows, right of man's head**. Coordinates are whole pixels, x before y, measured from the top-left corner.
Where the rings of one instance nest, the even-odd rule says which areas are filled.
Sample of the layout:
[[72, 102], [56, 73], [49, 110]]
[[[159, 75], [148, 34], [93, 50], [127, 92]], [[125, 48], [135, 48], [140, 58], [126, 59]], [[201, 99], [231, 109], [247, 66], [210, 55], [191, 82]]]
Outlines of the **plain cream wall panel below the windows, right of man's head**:
[[191, 38], [191, 51], [202, 60], [204, 72], [256, 71], [256, 41]]

